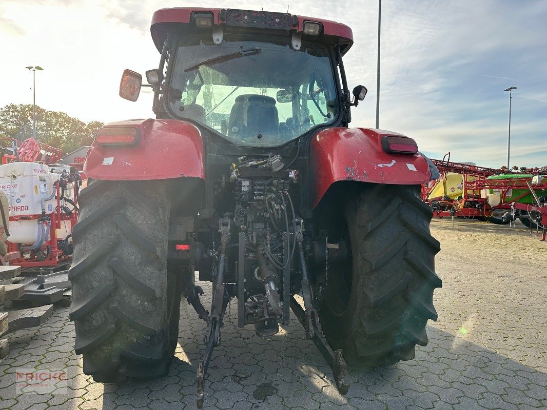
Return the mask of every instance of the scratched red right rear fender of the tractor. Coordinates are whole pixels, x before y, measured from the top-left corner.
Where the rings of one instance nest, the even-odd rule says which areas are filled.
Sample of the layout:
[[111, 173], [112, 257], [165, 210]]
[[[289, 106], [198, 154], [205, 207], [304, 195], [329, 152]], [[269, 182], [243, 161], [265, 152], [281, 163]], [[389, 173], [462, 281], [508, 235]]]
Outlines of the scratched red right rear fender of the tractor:
[[403, 135], [371, 128], [328, 128], [312, 138], [312, 209], [337, 181], [419, 185], [431, 179], [436, 169], [430, 168], [427, 157], [388, 154], [382, 147], [384, 136]]

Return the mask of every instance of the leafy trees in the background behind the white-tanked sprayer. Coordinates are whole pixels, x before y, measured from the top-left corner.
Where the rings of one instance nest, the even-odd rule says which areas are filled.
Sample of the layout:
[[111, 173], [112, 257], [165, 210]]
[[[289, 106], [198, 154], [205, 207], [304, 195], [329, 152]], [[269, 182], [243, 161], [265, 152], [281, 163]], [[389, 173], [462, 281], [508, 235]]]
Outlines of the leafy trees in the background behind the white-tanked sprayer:
[[[8, 104], [0, 108], [0, 138], [9, 145], [7, 138], [24, 140], [32, 137], [32, 104]], [[102, 122], [85, 123], [66, 113], [49, 111], [36, 106], [36, 139], [69, 153], [83, 145], [90, 145]]]

